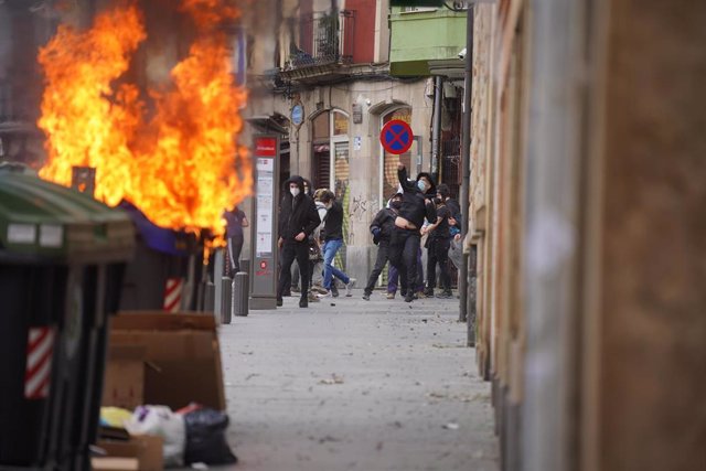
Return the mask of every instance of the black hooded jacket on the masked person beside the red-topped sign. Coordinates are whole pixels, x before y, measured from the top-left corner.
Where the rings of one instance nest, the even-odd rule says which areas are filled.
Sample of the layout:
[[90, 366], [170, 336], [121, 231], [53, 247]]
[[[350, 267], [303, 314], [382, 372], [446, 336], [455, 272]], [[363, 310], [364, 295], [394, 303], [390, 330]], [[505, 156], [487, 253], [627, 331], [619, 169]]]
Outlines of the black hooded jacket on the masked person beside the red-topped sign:
[[[289, 184], [292, 182], [299, 186], [297, 197], [289, 192]], [[321, 220], [317, 205], [304, 194], [304, 180], [292, 175], [285, 183], [285, 195], [279, 205], [279, 236], [285, 240], [295, 240], [297, 234], [303, 232], [308, 237], [319, 224]], [[301, 242], [307, 243], [307, 239]]]

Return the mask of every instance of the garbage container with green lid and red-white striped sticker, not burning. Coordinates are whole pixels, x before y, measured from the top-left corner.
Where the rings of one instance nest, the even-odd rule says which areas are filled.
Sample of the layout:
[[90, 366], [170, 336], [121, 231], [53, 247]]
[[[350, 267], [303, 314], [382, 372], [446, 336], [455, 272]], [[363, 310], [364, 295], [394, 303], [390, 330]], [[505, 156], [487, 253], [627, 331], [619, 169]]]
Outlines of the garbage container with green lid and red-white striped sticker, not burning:
[[133, 244], [122, 212], [0, 168], [0, 469], [89, 469]]

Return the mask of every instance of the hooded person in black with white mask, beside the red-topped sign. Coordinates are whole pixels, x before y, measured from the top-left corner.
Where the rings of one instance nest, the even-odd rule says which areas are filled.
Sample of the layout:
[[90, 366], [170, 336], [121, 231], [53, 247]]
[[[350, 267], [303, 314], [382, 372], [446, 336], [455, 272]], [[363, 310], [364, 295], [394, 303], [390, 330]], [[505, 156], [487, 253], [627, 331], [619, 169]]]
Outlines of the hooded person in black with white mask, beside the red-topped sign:
[[313, 200], [304, 193], [304, 180], [293, 175], [287, 180], [279, 208], [279, 240], [282, 261], [277, 285], [277, 306], [282, 306], [282, 293], [291, 283], [291, 264], [297, 259], [301, 272], [301, 298], [299, 307], [309, 306], [309, 240], [313, 229], [321, 224]]

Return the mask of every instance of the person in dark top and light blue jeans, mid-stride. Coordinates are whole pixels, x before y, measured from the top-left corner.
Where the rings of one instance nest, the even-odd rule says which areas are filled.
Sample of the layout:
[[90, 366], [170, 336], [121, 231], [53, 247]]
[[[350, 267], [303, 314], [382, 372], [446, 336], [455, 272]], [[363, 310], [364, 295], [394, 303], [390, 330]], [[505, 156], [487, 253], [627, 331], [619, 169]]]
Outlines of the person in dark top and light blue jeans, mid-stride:
[[336, 277], [345, 283], [345, 296], [351, 297], [353, 296], [352, 289], [355, 285], [355, 279], [350, 278], [332, 265], [335, 254], [343, 246], [343, 206], [335, 201], [335, 195], [331, 191], [323, 192], [321, 202], [327, 207], [323, 225], [324, 243], [321, 249], [323, 251], [323, 287], [327, 293], [321, 295], [320, 298], [330, 298], [333, 296], [331, 292], [333, 277]]

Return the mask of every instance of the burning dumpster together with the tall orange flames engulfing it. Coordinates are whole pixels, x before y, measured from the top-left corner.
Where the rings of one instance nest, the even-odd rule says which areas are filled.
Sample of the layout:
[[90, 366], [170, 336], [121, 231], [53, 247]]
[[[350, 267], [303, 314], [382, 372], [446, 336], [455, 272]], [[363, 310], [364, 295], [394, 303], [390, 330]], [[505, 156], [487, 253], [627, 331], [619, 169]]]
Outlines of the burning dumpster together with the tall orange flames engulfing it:
[[232, 61], [238, 18], [229, 1], [108, 1], [89, 28], [61, 24], [40, 50], [40, 175], [64, 185], [88, 175], [81, 186], [138, 229], [122, 309], [201, 307], [202, 254], [223, 242], [223, 211], [252, 191]]

